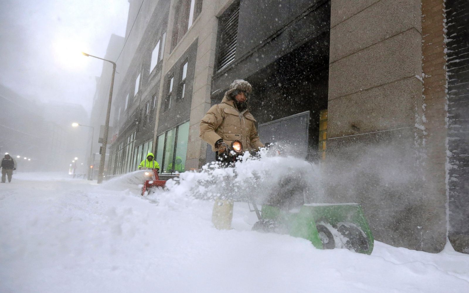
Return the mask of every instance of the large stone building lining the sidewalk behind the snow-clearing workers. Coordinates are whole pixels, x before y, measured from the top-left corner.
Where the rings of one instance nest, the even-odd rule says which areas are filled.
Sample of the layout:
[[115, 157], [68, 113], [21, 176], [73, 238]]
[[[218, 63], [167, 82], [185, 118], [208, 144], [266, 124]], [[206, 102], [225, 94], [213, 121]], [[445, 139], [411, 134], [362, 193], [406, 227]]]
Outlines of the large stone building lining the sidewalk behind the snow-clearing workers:
[[129, 2], [109, 174], [149, 151], [164, 172], [212, 160], [200, 119], [246, 79], [259, 125], [306, 111], [305, 159], [323, 163], [329, 201], [363, 205], [376, 239], [468, 252], [469, 2]]

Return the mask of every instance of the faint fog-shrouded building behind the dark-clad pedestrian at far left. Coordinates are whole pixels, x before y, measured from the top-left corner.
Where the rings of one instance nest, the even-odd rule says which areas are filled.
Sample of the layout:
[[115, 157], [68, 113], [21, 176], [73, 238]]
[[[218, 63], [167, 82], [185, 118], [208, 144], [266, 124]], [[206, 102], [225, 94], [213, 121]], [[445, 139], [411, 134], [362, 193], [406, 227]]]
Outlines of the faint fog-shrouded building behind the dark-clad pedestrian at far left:
[[19, 155], [16, 159], [20, 169], [66, 171], [75, 157], [84, 162], [82, 142], [86, 135], [71, 127], [78, 119], [87, 119], [82, 106], [42, 103], [24, 98], [3, 85], [0, 105], [0, 152]]

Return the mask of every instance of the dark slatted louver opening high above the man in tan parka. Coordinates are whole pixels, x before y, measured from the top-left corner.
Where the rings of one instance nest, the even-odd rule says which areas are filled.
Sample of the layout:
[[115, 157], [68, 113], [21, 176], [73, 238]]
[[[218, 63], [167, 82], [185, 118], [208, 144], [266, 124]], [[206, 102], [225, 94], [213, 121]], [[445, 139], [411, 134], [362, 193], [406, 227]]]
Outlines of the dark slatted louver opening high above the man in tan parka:
[[224, 69], [234, 61], [236, 54], [236, 40], [238, 38], [239, 3], [229, 8], [219, 20], [219, 58], [218, 70]]

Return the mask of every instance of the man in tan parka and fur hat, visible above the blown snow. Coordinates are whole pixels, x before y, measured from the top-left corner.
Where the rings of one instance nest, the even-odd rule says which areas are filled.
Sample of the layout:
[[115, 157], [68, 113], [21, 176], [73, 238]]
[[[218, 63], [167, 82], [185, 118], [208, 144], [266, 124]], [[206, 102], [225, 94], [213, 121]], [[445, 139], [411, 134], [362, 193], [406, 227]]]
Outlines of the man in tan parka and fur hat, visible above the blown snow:
[[241, 141], [243, 152], [264, 147], [257, 135], [256, 119], [248, 110], [251, 92], [252, 86], [247, 81], [236, 79], [221, 103], [210, 108], [202, 118], [200, 138], [209, 143], [217, 154], [229, 151], [234, 140]]

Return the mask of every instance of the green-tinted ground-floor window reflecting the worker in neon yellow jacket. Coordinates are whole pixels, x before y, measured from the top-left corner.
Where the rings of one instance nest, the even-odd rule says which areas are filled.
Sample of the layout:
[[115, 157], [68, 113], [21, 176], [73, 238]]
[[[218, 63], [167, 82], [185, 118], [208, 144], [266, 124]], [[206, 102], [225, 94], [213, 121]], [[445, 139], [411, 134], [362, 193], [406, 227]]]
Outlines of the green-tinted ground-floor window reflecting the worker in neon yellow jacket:
[[189, 140], [189, 122], [183, 123], [158, 136], [156, 162], [161, 172], [184, 172]]

